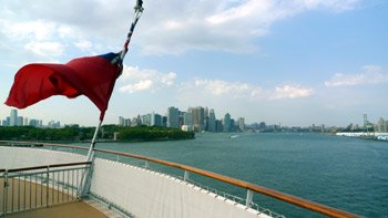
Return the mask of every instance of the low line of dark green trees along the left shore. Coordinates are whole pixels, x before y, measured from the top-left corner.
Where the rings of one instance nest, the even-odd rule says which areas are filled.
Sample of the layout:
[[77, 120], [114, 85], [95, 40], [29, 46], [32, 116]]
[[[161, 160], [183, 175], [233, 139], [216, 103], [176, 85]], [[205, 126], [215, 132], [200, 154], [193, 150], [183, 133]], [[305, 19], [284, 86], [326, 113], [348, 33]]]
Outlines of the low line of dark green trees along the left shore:
[[[63, 128], [39, 128], [33, 126], [0, 126], [0, 139], [2, 141], [91, 141], [95, 127], [80, 127], [78, 125]], [[194, 132], [183, 132], [178, 128], [160, 126], [123, 127], [118, 125], [103, 125], [99, 132], [99, 139], [119, 142], [146, 142], [146, 141], [175, 141], [192, 139]]]

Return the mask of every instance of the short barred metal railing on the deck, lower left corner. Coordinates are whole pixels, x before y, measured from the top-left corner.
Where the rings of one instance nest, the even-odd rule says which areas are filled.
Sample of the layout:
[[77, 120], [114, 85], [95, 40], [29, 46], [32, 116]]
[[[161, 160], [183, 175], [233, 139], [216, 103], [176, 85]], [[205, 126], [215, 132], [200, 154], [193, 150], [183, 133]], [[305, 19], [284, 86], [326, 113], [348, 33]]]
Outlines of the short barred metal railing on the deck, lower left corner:
[[79, 200], [81, 174], [92, 162], [0, 169], [0, 217]]

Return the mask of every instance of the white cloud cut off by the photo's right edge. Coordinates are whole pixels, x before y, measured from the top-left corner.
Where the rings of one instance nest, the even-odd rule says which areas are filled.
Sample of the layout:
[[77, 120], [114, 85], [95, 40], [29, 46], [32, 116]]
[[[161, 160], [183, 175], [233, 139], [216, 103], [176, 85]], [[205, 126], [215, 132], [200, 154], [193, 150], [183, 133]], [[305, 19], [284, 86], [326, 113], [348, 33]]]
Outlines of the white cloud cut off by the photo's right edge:
[[388, 83], [388, 74], [382, 73], [382, 69], [378, 65], [365, 65], [359, 74], [336, 73], [330, 80], [325, 82], [325, 85], [351, 86], [379, 83]]

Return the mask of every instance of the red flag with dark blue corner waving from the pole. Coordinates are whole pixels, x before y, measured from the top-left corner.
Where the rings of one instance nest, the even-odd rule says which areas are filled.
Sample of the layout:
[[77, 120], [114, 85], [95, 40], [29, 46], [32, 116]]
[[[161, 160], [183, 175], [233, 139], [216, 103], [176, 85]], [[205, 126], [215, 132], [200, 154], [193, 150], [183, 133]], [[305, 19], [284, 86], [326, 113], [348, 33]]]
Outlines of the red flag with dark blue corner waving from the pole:
[[67, 64], [28, 64], [16, 74], [6, 104], [24, 108], [52, 95], [73, 98], [83, 94], [99, 107], [102, 121], [121, 71], [120, 53], [74, 59]]

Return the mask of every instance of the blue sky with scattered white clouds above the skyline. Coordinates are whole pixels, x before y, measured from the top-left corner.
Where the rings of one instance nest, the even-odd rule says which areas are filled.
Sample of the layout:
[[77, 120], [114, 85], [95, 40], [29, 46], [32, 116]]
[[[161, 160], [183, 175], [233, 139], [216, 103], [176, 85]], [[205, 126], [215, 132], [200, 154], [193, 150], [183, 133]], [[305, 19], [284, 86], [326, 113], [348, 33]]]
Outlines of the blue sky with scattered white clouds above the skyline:
[[[120, 51], [135, 0], [0, 0], [0, 100], [27, 63]], [[388, 1], [144, 0], [105, 123], [214, 108], [246, 123], [388, 120]], [[0, 105], [0, 118], [10, 114]], [[55, 96], [19, 115], [95, 125], [85, 97]]]

